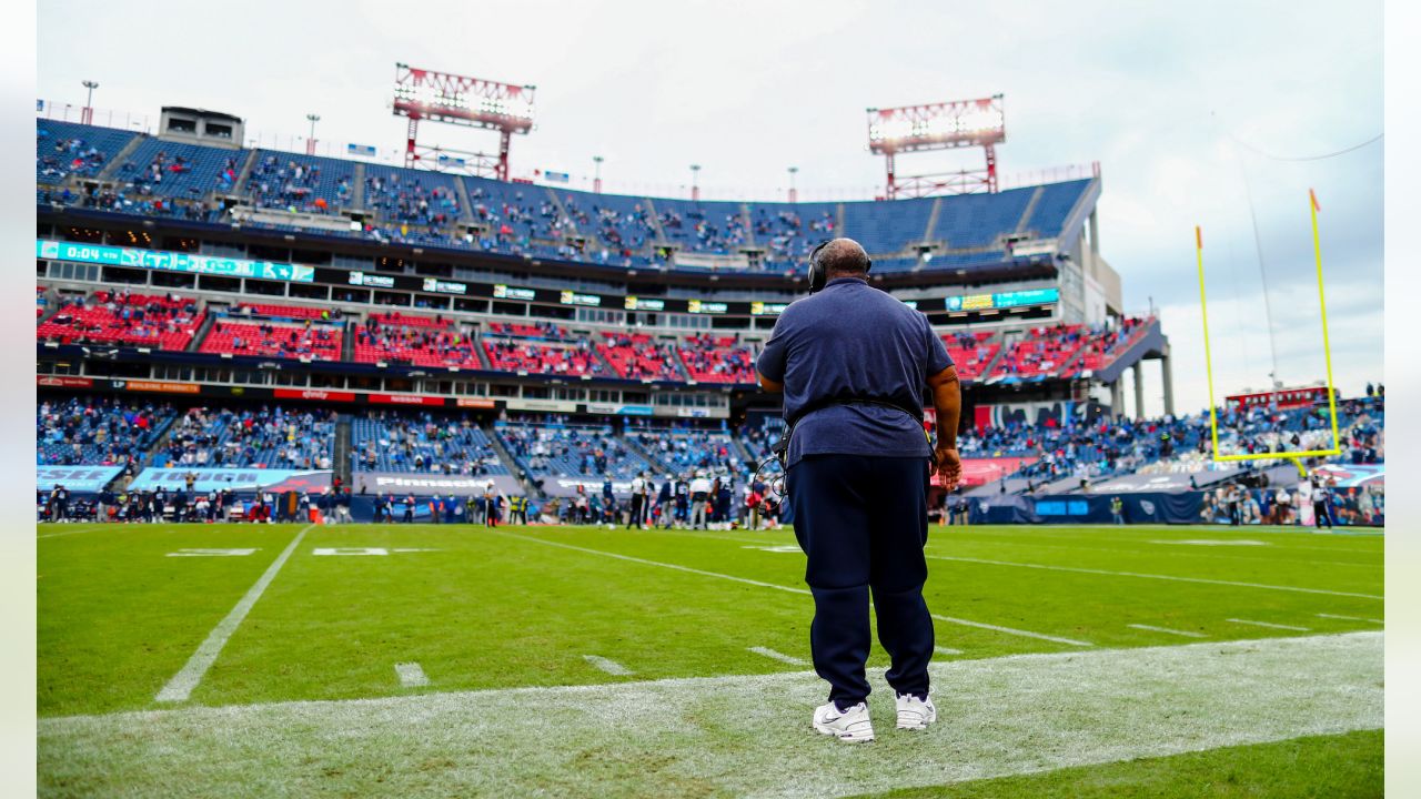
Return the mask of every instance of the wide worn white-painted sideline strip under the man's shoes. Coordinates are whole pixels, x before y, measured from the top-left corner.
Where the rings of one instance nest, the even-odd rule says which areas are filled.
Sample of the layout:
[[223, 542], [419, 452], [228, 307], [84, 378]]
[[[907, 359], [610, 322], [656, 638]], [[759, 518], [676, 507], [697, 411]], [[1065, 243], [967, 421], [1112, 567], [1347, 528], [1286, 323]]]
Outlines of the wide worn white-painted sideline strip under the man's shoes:
[[1368, 631], [938, 663], [939, 721], [912, 735], [872, 670], [867, 749], [810, 732], [826, 687], [807, 671], [45, 718], [40, 792], [851, 796], [1377, 729], [1383, 645]]

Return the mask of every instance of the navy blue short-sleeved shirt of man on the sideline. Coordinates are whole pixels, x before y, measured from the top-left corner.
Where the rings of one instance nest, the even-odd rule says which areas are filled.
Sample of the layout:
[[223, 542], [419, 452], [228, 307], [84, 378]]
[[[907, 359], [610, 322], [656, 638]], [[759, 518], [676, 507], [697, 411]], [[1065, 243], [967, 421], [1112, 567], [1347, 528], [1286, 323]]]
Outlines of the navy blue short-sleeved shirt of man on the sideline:
[[[756, 368], [784, 384], [784, 418], [826, 398], [872, 397], [922, 407], [928, 377], [952, 365], [928, 317], [861, 277], [830, 280], [790, 303]], [[882, 405], [811, 411], [790, 436], [789, 465], [804, 455], [929, 458], [922, 425]]]

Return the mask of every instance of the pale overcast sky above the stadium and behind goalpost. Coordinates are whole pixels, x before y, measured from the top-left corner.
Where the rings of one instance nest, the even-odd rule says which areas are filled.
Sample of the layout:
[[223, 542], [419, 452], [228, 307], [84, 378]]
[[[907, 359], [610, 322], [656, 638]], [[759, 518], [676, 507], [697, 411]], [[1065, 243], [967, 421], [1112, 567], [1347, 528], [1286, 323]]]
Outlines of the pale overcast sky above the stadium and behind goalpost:
[[[1333, 365], [1358, 392], [1383, 365], [1381, 4], [1091, 3], [269, 3], [45, 0], [38, 94], [156, 122], [161, 105], [247, 119], [263, 145], [317, 138], [394, 152], [394, 64], [537, 85], [514, 175], [570, 172], [608, 191], [870, 199], [882, 163], [864, 109], [1003, 94], [1009, 183], [1101, 163], [1103, 253], [1125, 307], [1162, 313], [1179, 409], [1205, 407], [1194, 225], [1204, 226], [1222, 391], [1323, 377], [1307, 189], [1323, 212]], [[122, 119], [128, 117], [118, 117]], [[462, 149], [493, 134], [426, 125]], [[975, 166], [971, 151], [899, 158], [901, 173]], [[1249, 202], [1252, 195], [1252, 205]], [[1250, 209], [1256, 213], [1258, 237]], [[1263, 269], [1259, 264], [1262, 252]], [[1266, 300], [1275, 344], [1268, 337]], [[1160, 409], [1147, 371], [1147, 409]]]

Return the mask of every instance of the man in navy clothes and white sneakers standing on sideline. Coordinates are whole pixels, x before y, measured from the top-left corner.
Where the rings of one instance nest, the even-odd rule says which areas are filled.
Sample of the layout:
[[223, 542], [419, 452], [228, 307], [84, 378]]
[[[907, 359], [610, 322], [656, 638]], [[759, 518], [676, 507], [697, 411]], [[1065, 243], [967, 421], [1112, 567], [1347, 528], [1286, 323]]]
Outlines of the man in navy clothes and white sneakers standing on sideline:
[[[872, 262], [851, 239], [810, 256], [810, 297], [791, 303], [756, 368], [784, 392], [790, 427], [786, 493], [794, 537], [809, 556], [814, 596], [810, 650], [828, 681], [817, 732], [872, 741], [868, 718], [870, 591], [878, 640], [892, 658], [898, 728], [936, 719], [928, 698], [932, 617], [922, 599], [928, 564], [932, 461], [952, 490], [962, 475], [958, 372], [928, 317], [868, 286]], [[922, 397], [932, 394], [938, 445], [928, 445]]]

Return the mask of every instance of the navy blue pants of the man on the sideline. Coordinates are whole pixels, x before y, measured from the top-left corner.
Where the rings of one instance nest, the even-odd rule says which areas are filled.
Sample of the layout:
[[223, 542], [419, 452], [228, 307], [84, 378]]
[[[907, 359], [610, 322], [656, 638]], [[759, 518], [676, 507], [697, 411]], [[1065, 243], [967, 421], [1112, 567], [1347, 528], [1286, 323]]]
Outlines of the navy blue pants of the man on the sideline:
[[809, 556], [804, 581], [814, 594], [814, 671], [840, 708], [868, 698], [870, 590], [878, 641], [892, 658], [888, 684], [899, 694], [928, 692], [928, 478], [926, 458], [867, 455], [810, 455], [786, 478], [794, 537]]

